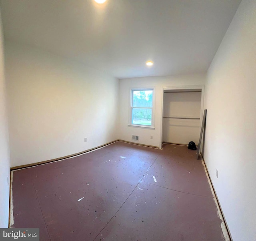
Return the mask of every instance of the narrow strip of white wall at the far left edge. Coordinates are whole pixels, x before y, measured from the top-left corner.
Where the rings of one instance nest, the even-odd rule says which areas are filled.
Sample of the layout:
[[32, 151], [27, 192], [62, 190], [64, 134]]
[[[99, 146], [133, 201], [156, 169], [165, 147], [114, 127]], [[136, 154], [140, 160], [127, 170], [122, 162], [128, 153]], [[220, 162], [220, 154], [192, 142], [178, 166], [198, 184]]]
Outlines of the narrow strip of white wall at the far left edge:
[[0, 16], [0, 228], [8, 227], [9, 221], [10, 152], [8, 138], [4, 48]]

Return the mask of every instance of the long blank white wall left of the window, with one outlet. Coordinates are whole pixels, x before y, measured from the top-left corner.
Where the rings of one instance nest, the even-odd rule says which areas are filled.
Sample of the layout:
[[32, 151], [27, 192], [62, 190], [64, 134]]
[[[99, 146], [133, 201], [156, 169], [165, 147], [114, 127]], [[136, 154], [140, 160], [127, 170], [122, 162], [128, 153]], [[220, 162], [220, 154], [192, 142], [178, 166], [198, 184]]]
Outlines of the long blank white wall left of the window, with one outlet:
[[36, 48], [5, 48], [12, 167], [117, 139], [116, 78]]

